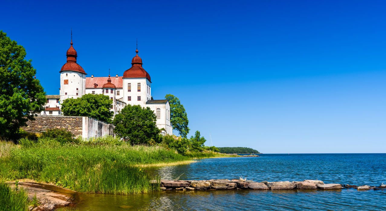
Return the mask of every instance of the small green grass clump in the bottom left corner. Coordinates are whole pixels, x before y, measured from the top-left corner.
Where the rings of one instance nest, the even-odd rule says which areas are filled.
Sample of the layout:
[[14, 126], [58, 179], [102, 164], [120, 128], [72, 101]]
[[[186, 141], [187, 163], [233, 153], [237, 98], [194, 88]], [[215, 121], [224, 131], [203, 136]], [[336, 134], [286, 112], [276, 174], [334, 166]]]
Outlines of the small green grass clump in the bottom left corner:
[[0, 210], [27, 211], [27, 193], [23, 189], [12, 189], [10, 184], [0, 181]]

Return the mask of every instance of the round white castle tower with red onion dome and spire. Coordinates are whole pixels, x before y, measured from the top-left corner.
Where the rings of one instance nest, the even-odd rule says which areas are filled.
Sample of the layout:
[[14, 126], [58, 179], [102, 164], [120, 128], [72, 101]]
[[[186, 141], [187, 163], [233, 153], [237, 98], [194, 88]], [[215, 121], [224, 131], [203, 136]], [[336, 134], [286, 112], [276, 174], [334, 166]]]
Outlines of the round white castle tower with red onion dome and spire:
[[67, 50], [67, 62], [63, 65], [60, 72], [60, 100], [68, 98], [77, 98], [86, 94], [86, 72], [76, 63], [78, 57], [76, 50], [73, 47], [72, 31], [71, 31], [71, 46]]

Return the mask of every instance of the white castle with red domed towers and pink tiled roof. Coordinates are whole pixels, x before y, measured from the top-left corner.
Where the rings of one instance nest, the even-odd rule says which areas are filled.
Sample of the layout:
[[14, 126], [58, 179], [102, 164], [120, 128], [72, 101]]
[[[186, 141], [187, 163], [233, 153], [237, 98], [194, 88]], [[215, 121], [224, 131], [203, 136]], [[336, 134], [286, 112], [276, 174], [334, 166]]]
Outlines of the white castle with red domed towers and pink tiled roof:
[[67, 50], [67, 62], [60, 72], [60, 94], [46, 95], [46, 109], [41, 115], [63, 115], [61, 104], [65, 99], [81, 97], [84, 94], [103, 94], [113, 100], [111, 111], [118, 114], [127, 104], [150, 107], [157, 116], [157, 127], [163, 134], [172, 134], [170, 105], [168, 100], [153, 100], [150, 75], [142, 67], [142, 59], [137, 55], [131, 60], [132, 66], [115, 77], [86, 77], [86, 72], [76, 63], [77, 52], [71, 46]]

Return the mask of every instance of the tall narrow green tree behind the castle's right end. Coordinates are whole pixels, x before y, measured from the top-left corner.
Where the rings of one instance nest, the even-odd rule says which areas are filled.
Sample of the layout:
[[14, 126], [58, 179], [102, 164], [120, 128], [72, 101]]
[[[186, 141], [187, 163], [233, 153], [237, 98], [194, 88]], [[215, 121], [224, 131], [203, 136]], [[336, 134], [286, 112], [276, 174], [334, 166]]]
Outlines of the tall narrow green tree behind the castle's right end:
[[188, 127], [188, 115], [186, 114], [184, 106], [174, 95], [167, 94], [165, 95], [165, 99], [169, 100], [170, 104], [171, 126], [174, 130], [178, 131], [182, 137], [186, 138], [190, 129]]

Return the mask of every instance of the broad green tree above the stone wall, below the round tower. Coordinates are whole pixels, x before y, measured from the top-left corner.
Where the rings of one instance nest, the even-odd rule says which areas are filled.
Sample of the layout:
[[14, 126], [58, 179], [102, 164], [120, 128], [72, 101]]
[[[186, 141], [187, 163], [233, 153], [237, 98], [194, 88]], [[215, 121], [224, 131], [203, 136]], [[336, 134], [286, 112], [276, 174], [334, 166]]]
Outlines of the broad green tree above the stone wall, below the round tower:
[[113, 101], [103, 94], [85, 94], [78, 98], [63, 100], [64, 116], [89, 116], [100, 121], [111, 123], [113, 112], [110, 107]]

